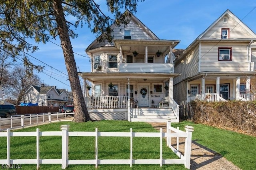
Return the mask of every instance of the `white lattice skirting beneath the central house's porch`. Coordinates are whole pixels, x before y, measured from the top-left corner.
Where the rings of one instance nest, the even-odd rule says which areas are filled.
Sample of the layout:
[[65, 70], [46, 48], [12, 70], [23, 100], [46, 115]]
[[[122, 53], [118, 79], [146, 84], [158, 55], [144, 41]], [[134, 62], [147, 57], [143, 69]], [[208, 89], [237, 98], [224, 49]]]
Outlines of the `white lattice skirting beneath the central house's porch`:
[[125, 121], [127, 120], [127, 112], [95, 112], [89, 113], [90, 118], [96, 121], [102, 120], [118, 120], [118, 121]]

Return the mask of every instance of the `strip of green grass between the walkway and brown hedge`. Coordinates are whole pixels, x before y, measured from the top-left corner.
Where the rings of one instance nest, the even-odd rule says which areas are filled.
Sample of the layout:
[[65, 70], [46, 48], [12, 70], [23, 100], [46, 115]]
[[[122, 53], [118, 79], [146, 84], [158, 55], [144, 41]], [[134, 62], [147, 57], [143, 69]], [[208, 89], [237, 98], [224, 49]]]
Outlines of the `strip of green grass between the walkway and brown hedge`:
[[190, 121], [172, 123], [172, 127], [180, 130], [184, 130], [185, 125], [194, 127], [192, 140], [195, 142], [218, 152], [242, 170], [256, 169], [256, 137]]

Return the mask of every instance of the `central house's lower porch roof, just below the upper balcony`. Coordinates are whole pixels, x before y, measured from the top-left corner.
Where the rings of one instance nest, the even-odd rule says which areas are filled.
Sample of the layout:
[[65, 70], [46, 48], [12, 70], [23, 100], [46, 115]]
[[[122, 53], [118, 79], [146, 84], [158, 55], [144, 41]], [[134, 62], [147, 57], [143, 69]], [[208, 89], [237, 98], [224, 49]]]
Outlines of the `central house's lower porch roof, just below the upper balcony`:
[[83, 79], [88, 79], [88, 81], [103, 81], [110, 80], [113, 81], [165, 81], [170, 77], [176, 77], [180, 73], [109, 73], [109, 72], [78, 72]]

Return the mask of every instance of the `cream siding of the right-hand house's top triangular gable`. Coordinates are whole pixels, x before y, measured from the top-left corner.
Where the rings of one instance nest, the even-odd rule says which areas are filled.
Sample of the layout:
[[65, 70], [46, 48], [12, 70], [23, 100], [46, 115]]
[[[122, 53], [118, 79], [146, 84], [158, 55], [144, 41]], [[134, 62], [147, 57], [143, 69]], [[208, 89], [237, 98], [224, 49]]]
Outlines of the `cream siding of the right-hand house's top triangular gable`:
[[221, 28], [229, 28], [230, 30], [230, 38], [253, 38], [252, 35], [249, 34], [238, 22], [236, 22], [232, 17], [228, 14], [226, 16], [228, 18], [228, 23], [223, 23], [223, 18], [220, 19], [204, 36], [202, 39], [208, 38], [221, 38]]

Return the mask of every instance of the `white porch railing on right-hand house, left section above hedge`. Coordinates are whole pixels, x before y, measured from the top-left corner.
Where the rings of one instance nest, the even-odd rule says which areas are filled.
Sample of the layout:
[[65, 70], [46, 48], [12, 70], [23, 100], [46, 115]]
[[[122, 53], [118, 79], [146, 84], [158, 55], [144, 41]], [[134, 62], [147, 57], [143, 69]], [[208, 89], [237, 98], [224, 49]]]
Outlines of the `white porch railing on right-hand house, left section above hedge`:
[[188, 102], [193, 101], [193, 100], [200, 100], [200, 101], [205, 100], [205, 101], [212, 101], [212, 102], [226, 101], [221, 96], [218, 96], [217, 93], [197, 94], [197, 95], [188, 97]]

